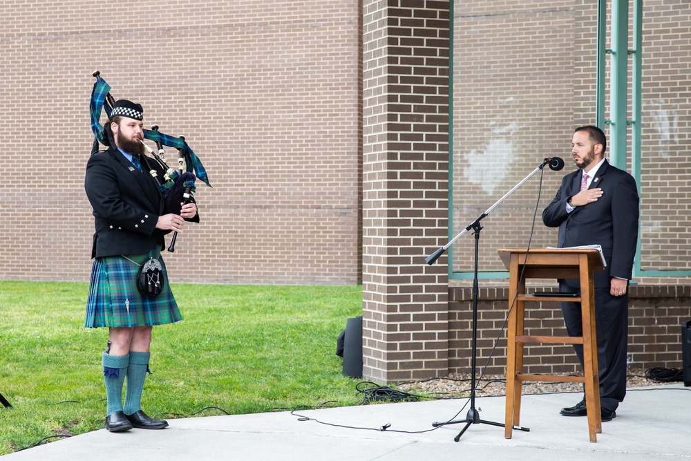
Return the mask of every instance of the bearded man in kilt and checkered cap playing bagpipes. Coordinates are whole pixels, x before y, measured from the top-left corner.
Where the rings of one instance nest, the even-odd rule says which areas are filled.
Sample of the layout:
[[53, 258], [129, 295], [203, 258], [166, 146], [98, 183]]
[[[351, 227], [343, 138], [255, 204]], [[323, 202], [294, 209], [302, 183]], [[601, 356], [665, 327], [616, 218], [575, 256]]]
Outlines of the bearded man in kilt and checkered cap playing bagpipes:
[[[140, 104], [116, 101], [105, 129], [110, 148], [95, 153], [86, 165], [84, 188], [93, 207], [95, 234], [86, 320], [88, 328], [108, 327], [108, 347], [102, 355], [111, 432], [163, 429], [141, 408], [144, 379], [149, 370], [151, 330], [182, 319], [161, 257], [164, 234], [182, 232], [185, 220], [199, 221], [195, 203], [180, 214], [164, 209], [159, 185], [149, 173], [164, 172], [144, 155], [144, 111]], [[160, 265], [162, 291], [155, 296], [138, 290], [137, 275], [147, 262]], [[127, 379], [124, 405], [122, 388]]]

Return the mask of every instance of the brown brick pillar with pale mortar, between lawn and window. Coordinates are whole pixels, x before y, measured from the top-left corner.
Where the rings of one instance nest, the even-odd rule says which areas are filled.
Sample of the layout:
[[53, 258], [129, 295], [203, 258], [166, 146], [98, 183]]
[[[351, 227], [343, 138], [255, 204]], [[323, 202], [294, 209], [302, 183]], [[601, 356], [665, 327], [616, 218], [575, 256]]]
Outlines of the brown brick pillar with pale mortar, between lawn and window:
[[446, 236], [448, 2], [363, 17], [363, 376], [443, 376], [446, 266], [424, 257]]

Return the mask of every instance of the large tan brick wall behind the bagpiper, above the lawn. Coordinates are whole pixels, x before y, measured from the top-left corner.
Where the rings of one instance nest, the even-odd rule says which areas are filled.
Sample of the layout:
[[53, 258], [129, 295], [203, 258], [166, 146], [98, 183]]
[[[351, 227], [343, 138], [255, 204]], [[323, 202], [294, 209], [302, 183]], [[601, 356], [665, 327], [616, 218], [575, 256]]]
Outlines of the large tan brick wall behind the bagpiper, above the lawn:
[[0, 279], [88, 280], [98, 69], [147, 128], [187, 137], [214, 186], [167, 254], [173, 282], [360, 282], [358, 1], [6, 1], [0, 16]]

